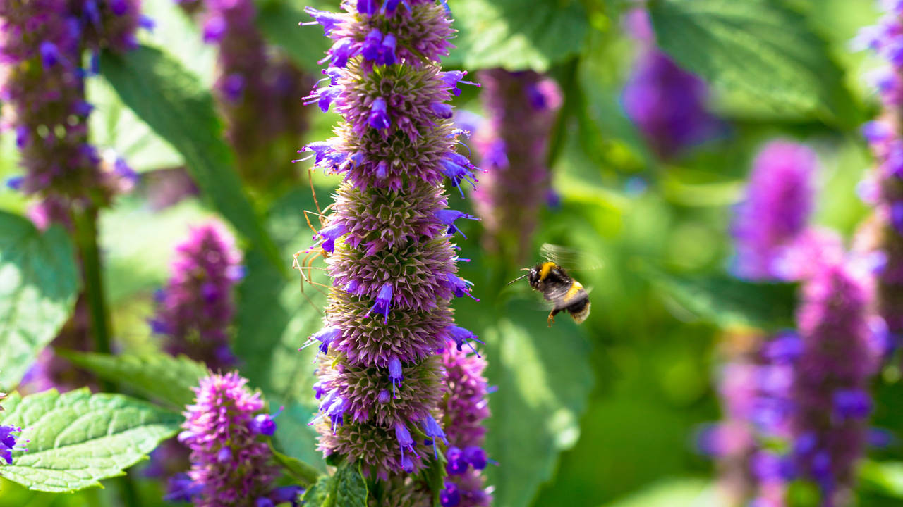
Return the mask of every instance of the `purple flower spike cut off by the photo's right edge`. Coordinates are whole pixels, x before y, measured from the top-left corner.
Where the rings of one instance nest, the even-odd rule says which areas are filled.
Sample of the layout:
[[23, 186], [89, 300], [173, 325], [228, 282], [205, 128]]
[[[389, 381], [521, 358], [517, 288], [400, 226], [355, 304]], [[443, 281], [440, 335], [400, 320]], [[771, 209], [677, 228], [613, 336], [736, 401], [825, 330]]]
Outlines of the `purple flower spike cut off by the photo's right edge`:
[[884, 0], [880, 5], [886, 12], [879, 23], [862, 29], [853, 41], [856, 49], [869, 49], [886, 62], [868, 77], [883, 111], [879, 118], [862, 126], [877, 163], [858, 188], [874, 213], [857, 241], [862, 250], [882, 256], [875, 304], [892, 338], [890, 353], [903, 336], [903, 53], [898, 49], [903, 44], [903, 3]]

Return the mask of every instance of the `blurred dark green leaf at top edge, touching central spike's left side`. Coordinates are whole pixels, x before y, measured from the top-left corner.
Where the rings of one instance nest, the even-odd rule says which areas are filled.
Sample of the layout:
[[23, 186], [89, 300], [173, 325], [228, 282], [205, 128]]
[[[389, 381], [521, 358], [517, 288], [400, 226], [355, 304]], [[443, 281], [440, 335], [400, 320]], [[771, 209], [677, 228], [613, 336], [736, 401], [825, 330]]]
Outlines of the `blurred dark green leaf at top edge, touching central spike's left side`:
[[256, 24], [267, 41], [282, 47], [302, 69], [311, 71], [322, 67], [317, 61], [326, 56], [331, 40], [323, 36], [320, 25], [298, 26], [313, 21], [304, 12], [304, 5], [310, 2], [264, 2], [258, 5]]

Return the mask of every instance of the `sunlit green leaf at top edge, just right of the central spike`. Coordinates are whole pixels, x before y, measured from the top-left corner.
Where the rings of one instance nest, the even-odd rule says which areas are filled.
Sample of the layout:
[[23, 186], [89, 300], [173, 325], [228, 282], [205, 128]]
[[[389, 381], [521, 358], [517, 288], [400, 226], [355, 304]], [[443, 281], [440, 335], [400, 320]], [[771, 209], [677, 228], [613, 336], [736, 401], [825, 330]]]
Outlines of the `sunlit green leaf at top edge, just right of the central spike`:
[[461, 0], [456, 49], [445, 64], [544, 72], [581, 51], [588, 20], [578, 0]]

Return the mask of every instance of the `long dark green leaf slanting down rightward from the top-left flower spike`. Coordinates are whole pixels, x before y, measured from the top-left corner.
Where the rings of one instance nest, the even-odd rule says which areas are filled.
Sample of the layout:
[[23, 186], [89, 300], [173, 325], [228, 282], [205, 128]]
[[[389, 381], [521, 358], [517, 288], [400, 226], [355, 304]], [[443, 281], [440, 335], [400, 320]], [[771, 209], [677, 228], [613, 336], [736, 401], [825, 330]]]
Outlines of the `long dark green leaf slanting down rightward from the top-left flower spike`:
[[105, 51], [100, 69], [126, 106], [182, 153], [191, 177], [219, 213], [282, 269], [275, 244], [241, 188], [209, 90], [172, 55], [147, 46], [125, 55]]

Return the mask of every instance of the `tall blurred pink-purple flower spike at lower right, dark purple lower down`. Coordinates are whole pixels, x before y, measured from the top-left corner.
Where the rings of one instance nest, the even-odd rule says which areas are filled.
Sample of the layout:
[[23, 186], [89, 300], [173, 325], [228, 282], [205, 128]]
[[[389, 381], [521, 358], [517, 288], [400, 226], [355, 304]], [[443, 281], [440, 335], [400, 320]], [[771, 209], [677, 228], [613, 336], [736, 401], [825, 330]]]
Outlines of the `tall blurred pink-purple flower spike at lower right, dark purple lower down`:
[[825, 263], [805, 281], [797, 322], [792, 436], [797, 471], [820, 485], [824, 504], [846, 495], [866, 444], [870, 349], [866, 283], [845, 263]]

